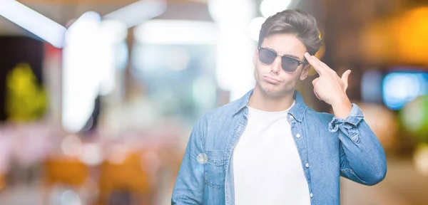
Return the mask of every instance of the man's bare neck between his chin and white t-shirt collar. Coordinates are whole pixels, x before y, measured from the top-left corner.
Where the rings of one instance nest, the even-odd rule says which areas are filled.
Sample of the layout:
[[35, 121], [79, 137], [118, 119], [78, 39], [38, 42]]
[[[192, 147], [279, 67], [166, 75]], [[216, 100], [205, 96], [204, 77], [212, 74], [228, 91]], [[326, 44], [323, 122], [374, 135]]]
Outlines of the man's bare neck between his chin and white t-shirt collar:
[[258, 86], [255, 86], [253, 95], [250, 96], [248, 106], [267, 112], [287, 110], [291, 107], [292, 102], [294, 102], [292, 98], [293, 94], [294, 90], [281, 96], [267, 95], [267, 93], [264, 93]]

